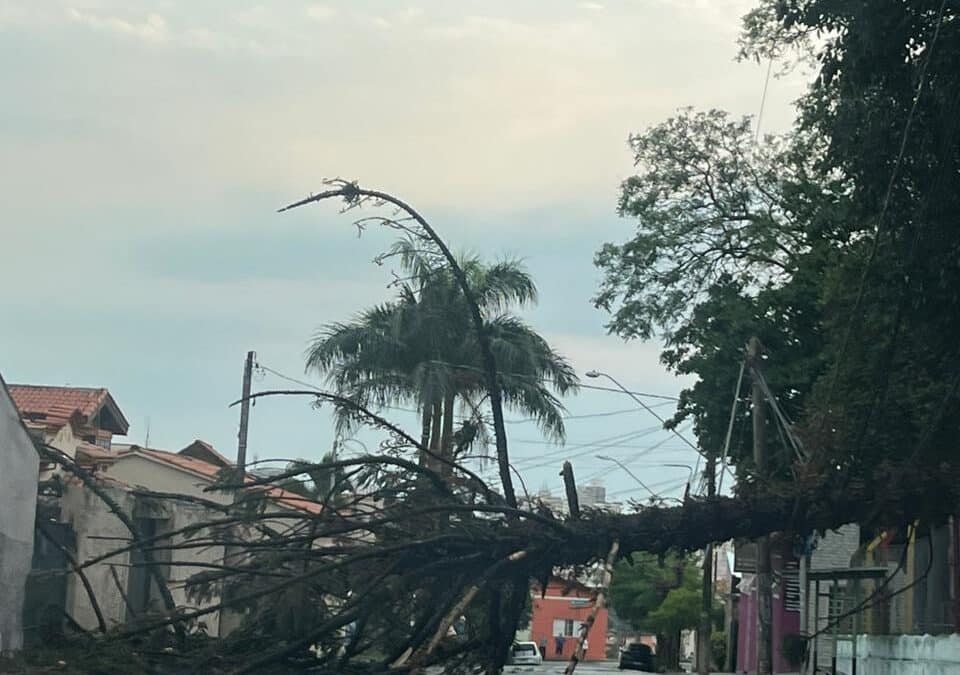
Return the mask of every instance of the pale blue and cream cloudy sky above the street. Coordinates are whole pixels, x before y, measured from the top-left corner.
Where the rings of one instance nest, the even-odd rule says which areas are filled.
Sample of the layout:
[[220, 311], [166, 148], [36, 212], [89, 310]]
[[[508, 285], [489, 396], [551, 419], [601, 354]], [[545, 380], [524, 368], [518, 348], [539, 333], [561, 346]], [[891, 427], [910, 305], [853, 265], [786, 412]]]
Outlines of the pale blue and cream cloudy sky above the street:
[[[735, 61], [752, 4], [0, 0], [0, 373], [107, 387], [129, 442], [149, 429], [152, 447], [234, 455], [247, 350], [321, 386], [311, 336], [392, 294], [371, 264], [390, 232], [358, 237], [332, 204], [276, 213], [343, 177], [415, 205], [455, 249], [522, 258], [540, 289], [523, 316], [578, 372], [675, 396], [690, 382], [658, 343], [607, 335], [592, 257], [634, 227], [616, 214], [630, 133], [683, 106], [758, 114], [766, 64]], [[764, 132], [789, 127], [803, 87], [769, 81]], [[688, 469], [664, 464], [696, 454], [632, 399], [565, 405], [564, 447], [510, 416], [531, 492], [556, 490], [570, 458], [610, 498], [646, 496], [601, 453], [682, 492]], [[347, 452], [377, 443], [357, 440]], [[249, 456], [318, 459], [332, 442], [305, 399], [253, 408]]]

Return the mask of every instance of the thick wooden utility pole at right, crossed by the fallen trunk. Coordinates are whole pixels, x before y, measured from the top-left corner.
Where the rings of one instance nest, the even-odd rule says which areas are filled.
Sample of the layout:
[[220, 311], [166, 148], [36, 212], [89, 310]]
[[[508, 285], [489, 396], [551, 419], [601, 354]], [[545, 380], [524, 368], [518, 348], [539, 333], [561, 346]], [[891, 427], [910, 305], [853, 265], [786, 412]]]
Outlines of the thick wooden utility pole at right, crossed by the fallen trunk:
[[[761, 358], [760, 340], [750, 338], [747, 345], [747, 360], [753, 379], [751, 399], [753, 409], [753, 464], [756, 480], [767, 477], [766, 457], [766, 402], [760, 386]], [[770, 537], [757, 539], [757, 675], [773, 673], [773, 574], [770, 568]]]

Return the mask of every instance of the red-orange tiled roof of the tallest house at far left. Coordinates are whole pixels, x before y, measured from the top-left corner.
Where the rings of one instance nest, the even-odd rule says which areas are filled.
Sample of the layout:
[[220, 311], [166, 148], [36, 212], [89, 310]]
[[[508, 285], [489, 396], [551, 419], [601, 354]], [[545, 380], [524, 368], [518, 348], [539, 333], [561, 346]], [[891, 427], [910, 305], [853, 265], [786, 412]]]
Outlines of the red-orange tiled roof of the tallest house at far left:
[[33, 384], [11, 384], [8, 389], [21, 417], [26, 420], [42, 423], [48, 428], [62, 427], [70, 422], [85, 425], [106, 406], [113, 424], [104, 424], [103, 428], [114, 433], [127, 433], [129, 424], [106, 389]]

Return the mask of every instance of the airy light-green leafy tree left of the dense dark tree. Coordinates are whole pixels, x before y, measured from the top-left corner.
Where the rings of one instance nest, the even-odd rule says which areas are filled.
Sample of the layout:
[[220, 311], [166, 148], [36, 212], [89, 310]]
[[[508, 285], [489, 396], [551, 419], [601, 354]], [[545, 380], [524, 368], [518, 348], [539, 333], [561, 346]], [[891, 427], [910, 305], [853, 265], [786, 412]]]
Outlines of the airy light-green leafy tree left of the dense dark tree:
[[[620, 213], [637, 230], [597, 254], [604, 281], [595, 302], [611, 312], [612, 332], [661, 335], [664, 364], [699, 376], [671, 424], [692, 419], [700, 447], [719, 454], [733, 396], [748, 398], [736, 383], [751, 336], [767, 350], [766, 377], [786, 413], [804, 410], [823, 368], [820, 271], [835, 256], [845, 183], [816, 174], [815, 138], [758, 146], [748, 118], [715, 110], [683, 110], [631, 136], [631, 147], [638, 172], [624, 181]], [[743, 403], [730, 457], [746, 469]], [[774, 428], [767, 439], [771, 463], [789, 474], [792, 450]]]

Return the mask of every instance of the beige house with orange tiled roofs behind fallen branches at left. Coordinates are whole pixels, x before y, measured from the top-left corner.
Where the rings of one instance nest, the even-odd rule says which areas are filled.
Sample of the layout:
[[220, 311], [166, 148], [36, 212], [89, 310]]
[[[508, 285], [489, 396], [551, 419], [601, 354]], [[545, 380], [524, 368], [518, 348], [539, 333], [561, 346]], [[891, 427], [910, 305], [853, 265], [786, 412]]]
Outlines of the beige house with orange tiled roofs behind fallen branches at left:
[[[37, 523], [49, 536], [28, 547], [33, 569], [27, 579], [24, 623], [34, 628], [27, 639], [38, 643], [48, 631], [59, 632], [65, 616], [82, 629], [96, 630], [101, 622], [109, 629], [164, 611], [166, 600], [154, 575], [163, 579], [180, 609], [216, 604], [216, 597], [188, 597], [187, 581], [197, 571], [217, 569], [228, 552], [220, 544], [191, 546], [188, 539], [210, 538], [211, 530], [203, 524], [223, 518], [224, 508], [235, 500], [235, 491], [208, 490], [232, 467], [231, 462], [201, 440], [176, 452], [116, 443], [115, 436], [125, 435], [128, 423], [103, 388], [14, 385], [10, 393], [16, 406], [16, 411], [11, 406], [11, 419], [16, 420], [19, 413], [17, 424], [26, 441], [30, 442], [25, 435], [29, 432], [60, 450], [91, 474], [97, 487], [91, 489], [53, 463], [43, 464], [38, 499], [35, 451], [30, 459], [31, 476], [23, 484], [34, 492], [22, 501], [37, 504]], [[13, 474], [4, 467], [0, 480], [8, 475]], [[6, 492], [0, 494], [6, 496]], [[266, 500], [268, 515], [276, 510], [309, 516], [322, 510], [311, 500], [271, 485], [249, 488], [241, 498]], [[133, 535], [114, 509], [132, 522], [140, 536], [154, 542], [152, 562], [140, 550], [128, 550]], [[0, 511], [5, 510], [4, 505]], [[33, 522], [31, 512], [31, 534]], [[289, 520], [283, 526], [288, 524]], [[58, 573], [71, 569], [71, 559], [98, 560], [84, 570], [87, 584], [76, 573]], [[27, 564], [29, 569], [29, 556]], [[209, 634], [217, 634], [218, 613], [201, 620]]]

